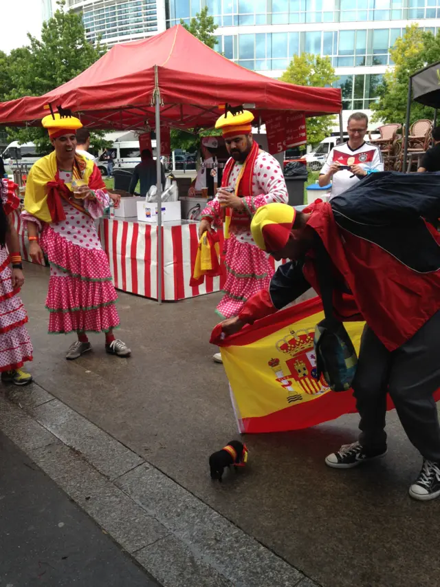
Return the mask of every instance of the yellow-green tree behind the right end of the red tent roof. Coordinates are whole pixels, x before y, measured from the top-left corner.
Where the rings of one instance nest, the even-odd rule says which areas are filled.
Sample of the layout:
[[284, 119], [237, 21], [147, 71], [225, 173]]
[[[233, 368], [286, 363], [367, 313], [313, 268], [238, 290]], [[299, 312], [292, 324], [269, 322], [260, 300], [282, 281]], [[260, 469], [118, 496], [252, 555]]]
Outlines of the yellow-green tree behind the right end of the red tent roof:
[[[289, 67], [280, 79], [296, 85], [328, 87], [336, 82], [338, 76], [335, 74], [329, 57], [303, 53], [300, 56], [294, 55]], [[333, 120], [334, 116], [307, 118], [307, 142], [316, 145], [329, 136]]]

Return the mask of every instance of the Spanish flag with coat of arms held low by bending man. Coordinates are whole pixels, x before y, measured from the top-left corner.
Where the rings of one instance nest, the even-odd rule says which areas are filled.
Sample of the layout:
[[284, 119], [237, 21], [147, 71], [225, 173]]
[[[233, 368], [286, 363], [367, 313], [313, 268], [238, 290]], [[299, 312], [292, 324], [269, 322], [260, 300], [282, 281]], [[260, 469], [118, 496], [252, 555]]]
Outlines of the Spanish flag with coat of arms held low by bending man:
[[[323, 318], [315, 297], [223, 340], [220, 325], [214, 328], [211, 342], [221, 349], [241, 433], [298, 430], [356, 412], [351, 389], [332, 392], [324, 378], [314, 376], [314, 331]], [[344, 325], [359, 352], [364, 323]], [[434, 398], [440, 399], [439, 391]], [[389, 396], [388, 409], [393, 409]]]

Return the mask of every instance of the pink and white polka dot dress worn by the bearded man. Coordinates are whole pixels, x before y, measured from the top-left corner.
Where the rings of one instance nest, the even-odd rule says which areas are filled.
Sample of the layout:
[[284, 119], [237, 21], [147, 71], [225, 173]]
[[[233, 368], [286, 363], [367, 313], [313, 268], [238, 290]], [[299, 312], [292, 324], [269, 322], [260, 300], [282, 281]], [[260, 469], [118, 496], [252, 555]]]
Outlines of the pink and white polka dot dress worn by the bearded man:
[[[235, 187], [242, 164], [236, 162], [230, 173], [229, 186]], [[250, 218], [260, 206], [272, 202], [287, 204], [288, 195], [283, 171], [278, 161], [261, 151], [254, 164], [252, 195], [245, 196], [243, 203]], [[217, 198], [209, 202], [201, 213], [214, 226], [223, 222], [223, 209]], [[226, 278], [225, 295], [217, 306], [217, 314], [223, 319], [236, 316], [246, 300], [260, 290], [267, 289], [274, 274], [268, 255], [256, 246], [250, 229], [233, 227], [233, 234], [225, 241]]]

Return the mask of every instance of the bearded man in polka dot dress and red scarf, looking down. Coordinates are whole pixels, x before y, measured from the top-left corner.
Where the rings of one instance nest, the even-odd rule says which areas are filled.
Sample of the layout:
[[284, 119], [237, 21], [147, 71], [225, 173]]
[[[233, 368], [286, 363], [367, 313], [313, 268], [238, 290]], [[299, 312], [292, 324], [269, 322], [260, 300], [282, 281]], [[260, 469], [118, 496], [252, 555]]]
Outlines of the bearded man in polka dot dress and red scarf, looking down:
[[[221, 129], [231, 158], [225, 164], [221, 188], [201, 213], [199, 237], [212, 226], [221, 226], [226, 240], [225, 295], [217, 306], [222, 319], [236, 316], [243, 303], [266, 289], [274, 273], [267, 254], [256, 246], [250, 231], [254, 213], [272, 202], [287, 203], [283, 171], [272, 155], [261, 151], [252, 138], [254, 115], [245, 110], [225, 112], [215, 127]], [[220, 353], [214, 361], [221, 363]]]

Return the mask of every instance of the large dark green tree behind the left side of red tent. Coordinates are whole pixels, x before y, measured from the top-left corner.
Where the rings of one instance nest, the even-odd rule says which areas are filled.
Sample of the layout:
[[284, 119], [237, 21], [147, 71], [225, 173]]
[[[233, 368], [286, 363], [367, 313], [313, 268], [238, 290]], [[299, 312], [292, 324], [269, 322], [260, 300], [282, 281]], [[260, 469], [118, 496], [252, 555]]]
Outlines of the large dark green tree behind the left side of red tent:
[[[65, 0], [58, 0], [54, 16], [43, 23], [41, 41], [28, 34], [29, 47], [14, 49], [7, 60], [9, 92], [2, 99], [41, 96], [71, 80], [97, 61], [106, 48], [87, 41], [83, 20], [72, 10], [65, 12]], [[0, 65], [1, 65], [0, 54]], [[1, 67], [0, 67], [1, 72]], [[47, 132], [41, 127], [8, 129], [10, 140], [34, 142], [40, 152], [50, 150]], [[102, 133], [94, 133], [91, 143], [101, 147]]]

